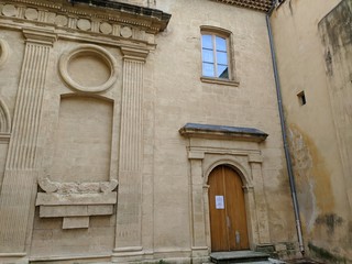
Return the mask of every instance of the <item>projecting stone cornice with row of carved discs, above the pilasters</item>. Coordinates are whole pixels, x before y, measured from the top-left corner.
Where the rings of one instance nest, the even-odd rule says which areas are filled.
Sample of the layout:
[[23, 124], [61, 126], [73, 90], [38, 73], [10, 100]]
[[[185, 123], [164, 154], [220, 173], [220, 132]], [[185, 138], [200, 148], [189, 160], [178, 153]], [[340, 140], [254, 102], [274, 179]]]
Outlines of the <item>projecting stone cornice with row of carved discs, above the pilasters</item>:
[[[88, 3], [90, 2], [90, 3]], [[106, 38], [154, 45], [170, 15], [156, 9], [101, 0], [0, 0], [3, 26], [51, 28], [58, 37]], [[97, 37], [97, 36], [100, 37]], [[79, 38], [78, 37], [78, 38]]]

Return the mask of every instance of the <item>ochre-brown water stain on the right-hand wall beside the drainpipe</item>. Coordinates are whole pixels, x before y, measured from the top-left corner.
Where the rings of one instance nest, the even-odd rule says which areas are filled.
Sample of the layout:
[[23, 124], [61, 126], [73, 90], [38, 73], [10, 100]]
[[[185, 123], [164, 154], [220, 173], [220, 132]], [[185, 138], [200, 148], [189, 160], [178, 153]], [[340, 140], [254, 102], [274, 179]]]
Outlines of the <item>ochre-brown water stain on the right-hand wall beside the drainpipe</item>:
[[297, 125], [289, 125], [288, 142], [300, 212], [310, 233], [319, 215], [333, 211], [330, 176], [315, 143]]

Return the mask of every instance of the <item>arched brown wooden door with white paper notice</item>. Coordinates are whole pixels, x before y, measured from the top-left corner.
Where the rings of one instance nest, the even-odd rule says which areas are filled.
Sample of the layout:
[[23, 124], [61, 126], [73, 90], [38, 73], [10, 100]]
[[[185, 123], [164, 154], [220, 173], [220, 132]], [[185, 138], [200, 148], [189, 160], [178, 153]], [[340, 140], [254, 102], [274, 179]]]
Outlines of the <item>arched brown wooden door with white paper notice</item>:
[[208, 179], [211, 251], [249, 249], [241, 177], [228, 166], [216, 167]]

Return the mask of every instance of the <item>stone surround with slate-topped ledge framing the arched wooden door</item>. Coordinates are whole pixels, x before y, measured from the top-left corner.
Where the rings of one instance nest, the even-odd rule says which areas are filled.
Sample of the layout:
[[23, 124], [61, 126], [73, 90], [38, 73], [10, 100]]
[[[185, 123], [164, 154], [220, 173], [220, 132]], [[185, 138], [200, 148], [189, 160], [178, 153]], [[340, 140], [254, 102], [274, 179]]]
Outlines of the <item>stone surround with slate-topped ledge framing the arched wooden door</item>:
[[193, 257], [204, 261], [211, 252], [208, 177], [220, 165], [231, 167], [242, 179], [250, 249], [271, 243], [261, 154], [267, 134], [250, 128], [196, 123], [187, 123], [179, 133], [189, 140]]

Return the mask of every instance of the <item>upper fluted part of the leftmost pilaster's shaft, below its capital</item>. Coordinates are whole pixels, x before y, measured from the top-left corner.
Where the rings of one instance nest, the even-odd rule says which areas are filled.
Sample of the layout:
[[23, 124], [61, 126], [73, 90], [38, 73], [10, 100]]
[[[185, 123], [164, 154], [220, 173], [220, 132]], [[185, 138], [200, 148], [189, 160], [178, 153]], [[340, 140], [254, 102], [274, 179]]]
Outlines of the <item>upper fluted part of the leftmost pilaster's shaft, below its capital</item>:
[[48, 52], [48, 46], [26, 45], [7, 169], [34, 167]]

